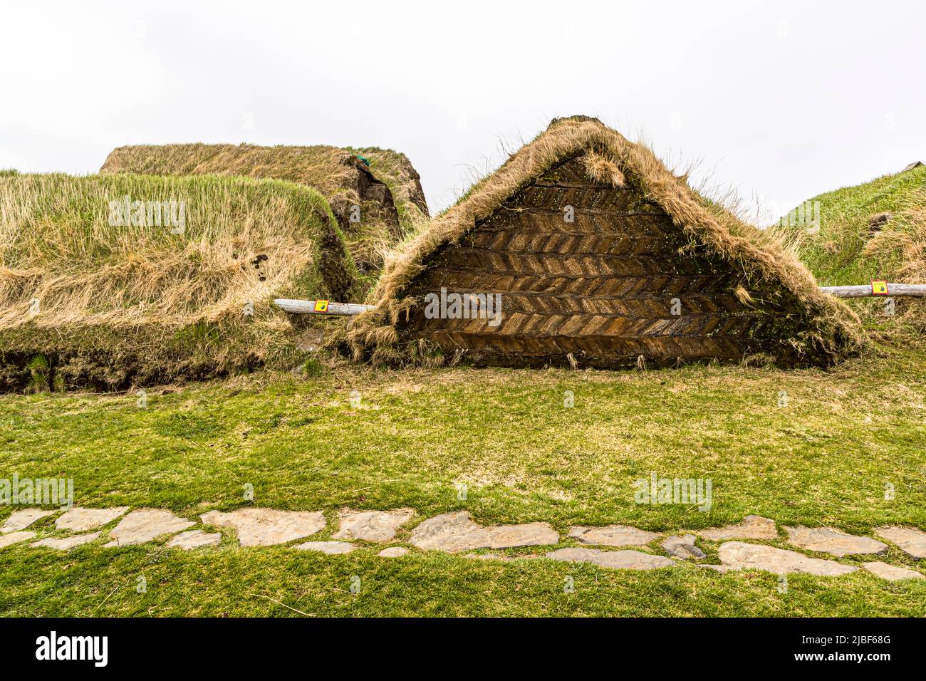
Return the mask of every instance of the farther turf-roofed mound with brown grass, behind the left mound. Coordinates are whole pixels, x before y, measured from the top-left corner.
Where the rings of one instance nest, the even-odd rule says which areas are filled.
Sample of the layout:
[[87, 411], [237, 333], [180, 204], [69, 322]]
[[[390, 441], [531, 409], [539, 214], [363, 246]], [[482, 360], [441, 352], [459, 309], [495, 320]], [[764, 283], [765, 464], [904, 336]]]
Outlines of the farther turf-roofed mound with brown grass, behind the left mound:
[[[383, 254], [428, 208], [419, 175], [408, 159], [378, 148], [336, 146], [139, 145], [121, 146], [103, 173], [240, 175], [314, 187], [341, 225], [348, 249], [371, 285]], [[357, 207], [355, 209], [354, 207]]]

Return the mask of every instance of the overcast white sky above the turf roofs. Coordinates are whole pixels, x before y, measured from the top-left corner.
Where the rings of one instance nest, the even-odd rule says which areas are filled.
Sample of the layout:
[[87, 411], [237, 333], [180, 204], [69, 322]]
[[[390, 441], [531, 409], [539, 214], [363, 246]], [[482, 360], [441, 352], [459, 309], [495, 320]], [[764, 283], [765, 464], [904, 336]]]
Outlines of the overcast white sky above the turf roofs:
[[[377, 145], [432, 212], [555, 116], [780, 214], [926, 161], [926, 3], [6, 2], [0, 168], [115, 146]], [[698, 178], [695, 177], [695, 180]]]

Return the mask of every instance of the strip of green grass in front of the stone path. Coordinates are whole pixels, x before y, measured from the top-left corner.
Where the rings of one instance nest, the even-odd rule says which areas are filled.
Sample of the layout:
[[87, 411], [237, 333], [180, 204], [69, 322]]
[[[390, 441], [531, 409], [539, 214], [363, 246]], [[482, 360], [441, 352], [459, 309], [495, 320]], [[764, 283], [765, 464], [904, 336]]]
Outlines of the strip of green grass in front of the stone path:
[[[444, 554], [377, 558], [292, 549], [38, 549], [0, 553], [0, 612], [50, 616], [919, 616], [926, 587], [864, 572], [648, 573]], [[146, 591], [138, 593], [138, 577]], [[352, 577], [359, 591], [351, 593]], [[566, 577], [574, 591], [565, 593]], [[275, 601], [279, 602], [274, 602]], [[294, 609], [297, 612], [294, 612]]]

